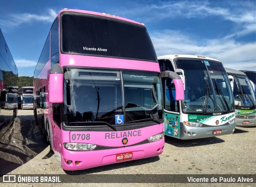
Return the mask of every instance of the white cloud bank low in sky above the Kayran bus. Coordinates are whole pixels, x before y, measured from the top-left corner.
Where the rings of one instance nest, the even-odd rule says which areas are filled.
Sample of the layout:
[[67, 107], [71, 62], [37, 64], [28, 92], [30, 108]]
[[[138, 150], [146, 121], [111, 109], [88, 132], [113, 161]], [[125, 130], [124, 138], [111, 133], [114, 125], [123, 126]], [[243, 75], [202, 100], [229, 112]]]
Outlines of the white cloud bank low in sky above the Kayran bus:
[[256, 71], [256, 43], [240, 43], [231, 39], [197, 40], [173, 30], [150, 34], [157, 56], [167, 54], [203, 55], [222, 61], [227, 68]]

